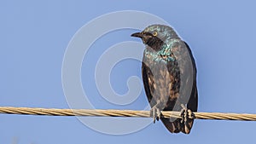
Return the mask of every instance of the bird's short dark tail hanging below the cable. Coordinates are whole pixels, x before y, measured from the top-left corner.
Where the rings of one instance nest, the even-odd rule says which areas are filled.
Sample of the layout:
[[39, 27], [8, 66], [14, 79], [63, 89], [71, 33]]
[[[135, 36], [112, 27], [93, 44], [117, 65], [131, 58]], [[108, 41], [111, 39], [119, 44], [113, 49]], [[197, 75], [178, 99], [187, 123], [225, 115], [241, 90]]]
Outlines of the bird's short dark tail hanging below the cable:
[[184, 134], [189, 134], [194, 119], [188, 119], [186, 124], [181, 123], [181, 119], [177, 118], [175, 121], [171, 122], [169, 118], [161, 118], [161, 121], [163, 124], [165, 124], [167, 130], [169, 130], [171, 133], [179, 133], [183, 132]]

